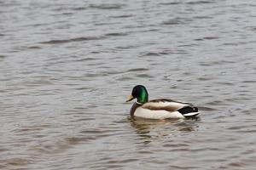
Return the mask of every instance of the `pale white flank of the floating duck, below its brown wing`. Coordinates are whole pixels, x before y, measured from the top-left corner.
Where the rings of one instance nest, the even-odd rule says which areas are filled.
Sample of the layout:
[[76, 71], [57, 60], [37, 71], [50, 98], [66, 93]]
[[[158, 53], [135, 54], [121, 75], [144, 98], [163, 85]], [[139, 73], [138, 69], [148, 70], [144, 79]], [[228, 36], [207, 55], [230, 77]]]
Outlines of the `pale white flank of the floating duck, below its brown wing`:
[[[161, 102], [163, 103], [163, 102]], [[166, 102], [165, 102], [166, 103]], [[170, 103], [170, 102], [168, 102]], [[179, 118], [184, 118], [184, 116], [178, 112], [169, 112], [169, 111], [151, 111], [148, 109], [144, 109], [142, 107], [138, 107], [137, 110], [134, 112], [134, 116], [137, 117], [143, 117], [143, 118], [148, 118], [148, 119], [179, 119]]]

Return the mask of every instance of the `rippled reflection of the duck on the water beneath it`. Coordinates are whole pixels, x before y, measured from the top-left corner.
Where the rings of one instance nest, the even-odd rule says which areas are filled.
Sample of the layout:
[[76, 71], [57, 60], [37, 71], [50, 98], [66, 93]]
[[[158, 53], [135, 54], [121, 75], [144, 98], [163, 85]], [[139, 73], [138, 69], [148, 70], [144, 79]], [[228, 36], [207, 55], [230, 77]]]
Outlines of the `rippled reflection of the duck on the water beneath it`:
[[153, 140], [162, 139], [166, 136], [176, 134], [177, 132], [191, 132], [198, 127], [197, 121], [199, 117], [189, 119], [175, 120], [148, 120], [136, 118], [135, 120], [128, 118], [131, 127], [134, 127], [140, 139], [144, 144], [151, 143]]

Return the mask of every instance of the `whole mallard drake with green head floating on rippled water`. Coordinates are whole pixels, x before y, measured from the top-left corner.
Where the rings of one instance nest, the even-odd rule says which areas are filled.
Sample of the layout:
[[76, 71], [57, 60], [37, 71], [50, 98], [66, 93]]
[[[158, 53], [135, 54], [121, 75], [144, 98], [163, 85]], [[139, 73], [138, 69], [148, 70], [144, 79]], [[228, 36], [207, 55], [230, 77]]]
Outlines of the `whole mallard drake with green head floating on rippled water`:
[[153, 99], [148, 101], [148, 91], [143, 85], [137, 85], [126, 102], [137, 101], [131, 106], [131, 118], [179, 119], [199, 114], [198, 108], [172, 99]]

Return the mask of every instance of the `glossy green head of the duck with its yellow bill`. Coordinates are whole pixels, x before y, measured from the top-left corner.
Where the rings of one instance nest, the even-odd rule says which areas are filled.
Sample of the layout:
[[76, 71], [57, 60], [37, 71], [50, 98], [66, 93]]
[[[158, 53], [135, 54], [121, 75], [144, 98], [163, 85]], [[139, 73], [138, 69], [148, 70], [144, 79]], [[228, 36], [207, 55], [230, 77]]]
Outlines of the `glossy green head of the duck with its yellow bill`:
[[147, 89], [143, 85], [137, 85], [132, 89], [132, 93], [126, 102], [131, 101], [132, 99], [137, 99], [137, 102], [141, 104], [148, 102]]

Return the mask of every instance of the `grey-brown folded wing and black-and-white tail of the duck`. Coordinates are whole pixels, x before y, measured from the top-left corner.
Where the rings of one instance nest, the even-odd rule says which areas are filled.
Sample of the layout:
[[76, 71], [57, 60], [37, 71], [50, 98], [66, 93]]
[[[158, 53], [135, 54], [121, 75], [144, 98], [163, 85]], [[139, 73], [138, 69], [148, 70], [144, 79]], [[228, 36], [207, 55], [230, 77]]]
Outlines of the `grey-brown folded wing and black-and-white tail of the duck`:
[[195, 116], [199, 114], [195, 106], [173, 99], [153, 99], [142, 105], [142, 107], [150, 111], [178, 111], [183, 116]]

